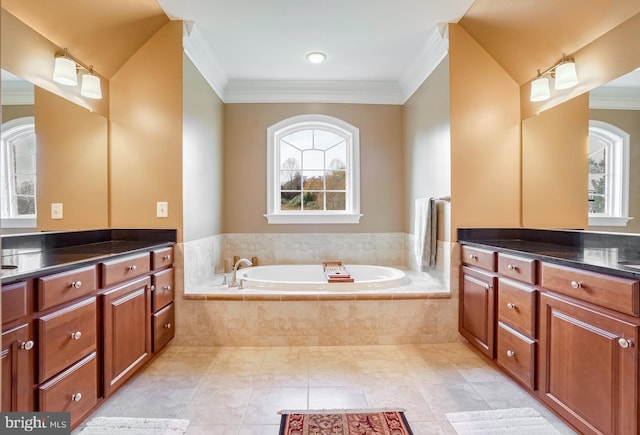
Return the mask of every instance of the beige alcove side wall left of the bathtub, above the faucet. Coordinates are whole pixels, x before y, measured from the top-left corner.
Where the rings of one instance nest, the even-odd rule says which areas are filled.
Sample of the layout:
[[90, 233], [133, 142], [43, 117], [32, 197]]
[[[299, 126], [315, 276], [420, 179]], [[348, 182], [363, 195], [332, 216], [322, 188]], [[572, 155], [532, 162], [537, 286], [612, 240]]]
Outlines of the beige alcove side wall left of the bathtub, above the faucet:
[[193, 63], [183, 62], [184, 241], [222, 233], [223, 104]]

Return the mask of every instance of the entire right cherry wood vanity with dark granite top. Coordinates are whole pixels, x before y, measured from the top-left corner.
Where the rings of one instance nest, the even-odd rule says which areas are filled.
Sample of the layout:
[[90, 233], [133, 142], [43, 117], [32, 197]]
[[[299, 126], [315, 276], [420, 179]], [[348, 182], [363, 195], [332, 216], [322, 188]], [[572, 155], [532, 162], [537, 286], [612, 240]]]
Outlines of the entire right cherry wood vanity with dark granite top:
[[581, 433], [637, 434], [640, 236], [460, 229], [459, 331]]

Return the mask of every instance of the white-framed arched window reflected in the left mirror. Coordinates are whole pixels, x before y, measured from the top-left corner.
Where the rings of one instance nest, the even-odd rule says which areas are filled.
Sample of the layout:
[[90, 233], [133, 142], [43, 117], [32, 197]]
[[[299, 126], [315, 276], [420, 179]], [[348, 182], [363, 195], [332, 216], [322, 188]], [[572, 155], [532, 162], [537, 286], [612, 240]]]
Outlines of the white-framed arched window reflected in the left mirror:
[[36, 226], [36, 134], [33, 116], [2, 124], [2, 226]]

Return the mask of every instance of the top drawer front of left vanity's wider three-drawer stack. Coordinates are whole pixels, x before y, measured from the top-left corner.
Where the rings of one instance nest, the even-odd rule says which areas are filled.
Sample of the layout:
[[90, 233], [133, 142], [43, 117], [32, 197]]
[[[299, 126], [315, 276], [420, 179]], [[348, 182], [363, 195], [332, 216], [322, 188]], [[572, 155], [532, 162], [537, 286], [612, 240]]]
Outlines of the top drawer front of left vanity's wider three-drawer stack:
[[89, 266], [38, 279], [38, 310], [45, 310], [96, 291], [96, 267]]

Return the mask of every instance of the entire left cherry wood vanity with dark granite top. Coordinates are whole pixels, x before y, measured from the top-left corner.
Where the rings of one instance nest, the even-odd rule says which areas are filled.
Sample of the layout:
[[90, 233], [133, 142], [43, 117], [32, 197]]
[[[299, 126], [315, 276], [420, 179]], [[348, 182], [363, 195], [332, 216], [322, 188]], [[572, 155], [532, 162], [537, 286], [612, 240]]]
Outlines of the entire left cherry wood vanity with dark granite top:
[[72, 427], [173, 338], [175, 230], [2, 237], [2, 411]]

